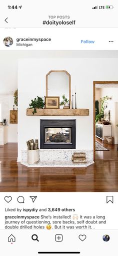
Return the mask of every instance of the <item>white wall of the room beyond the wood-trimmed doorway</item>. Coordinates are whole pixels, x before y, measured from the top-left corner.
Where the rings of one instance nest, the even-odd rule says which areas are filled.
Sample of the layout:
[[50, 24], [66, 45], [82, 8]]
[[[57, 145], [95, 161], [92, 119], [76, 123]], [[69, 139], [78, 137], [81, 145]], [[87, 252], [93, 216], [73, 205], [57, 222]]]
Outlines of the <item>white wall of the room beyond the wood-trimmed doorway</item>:
[[112, 100], [108, 100], [107, 109], [110, 110], [110, 123], [112, 125], [112, 136], [114, 137], [114, 144], [117, 144], [117, 127], [118, 123], [117, 110], [115, 108], [118, 103], [118, 87], [116, 88], [101, 88], [101, 98], [104, 96], [112, 97]]

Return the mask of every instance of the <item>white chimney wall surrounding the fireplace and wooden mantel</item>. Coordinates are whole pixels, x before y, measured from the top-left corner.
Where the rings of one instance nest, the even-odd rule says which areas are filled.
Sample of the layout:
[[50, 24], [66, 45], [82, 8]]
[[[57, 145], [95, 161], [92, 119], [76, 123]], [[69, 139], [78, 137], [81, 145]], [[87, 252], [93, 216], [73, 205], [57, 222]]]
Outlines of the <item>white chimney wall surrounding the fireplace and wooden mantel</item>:
[[[117, 59], [21, 59], [18, 61], [18, 161], [26, 141], [40, 138], [40, 119], [76, 119], [76, 149], [93, 150], [93, 81], [117, 81]], [[88, 108], [89, 116], [26, 116], [31, 99], [45, 96], [45, 76], [50, 70], [71, 75], [77, 108]], [[55, 85], [56, 86], [56, 85]], [[55, 95], [57, 96], [57, 95]], [[50, 110], [51, 111], [51, 110]]]

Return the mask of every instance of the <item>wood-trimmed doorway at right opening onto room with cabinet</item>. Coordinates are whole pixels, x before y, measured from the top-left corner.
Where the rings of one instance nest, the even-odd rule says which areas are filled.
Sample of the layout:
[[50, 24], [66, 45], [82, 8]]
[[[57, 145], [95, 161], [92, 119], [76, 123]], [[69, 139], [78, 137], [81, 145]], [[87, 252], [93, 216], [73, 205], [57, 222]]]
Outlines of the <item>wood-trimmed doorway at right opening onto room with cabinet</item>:
[[[96, 158], [96, 142], [107, 150], [104, 139], [117, 144], [118, 129], [118, 81], [93, 81], [93, 158]], [[107, 141], [106, 143], [109, 143]], [[114, 146], [114, 145], [113, 145]], [[111, 146], [111, 148], [113, 148]], [[100, 146], [99, 146], [100, 147]], [[102, 148], [101, 148], [102, 150]], [[105, 153], [106, 154], [106, 153]]]

